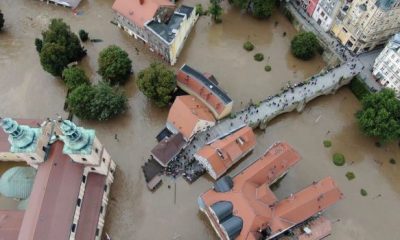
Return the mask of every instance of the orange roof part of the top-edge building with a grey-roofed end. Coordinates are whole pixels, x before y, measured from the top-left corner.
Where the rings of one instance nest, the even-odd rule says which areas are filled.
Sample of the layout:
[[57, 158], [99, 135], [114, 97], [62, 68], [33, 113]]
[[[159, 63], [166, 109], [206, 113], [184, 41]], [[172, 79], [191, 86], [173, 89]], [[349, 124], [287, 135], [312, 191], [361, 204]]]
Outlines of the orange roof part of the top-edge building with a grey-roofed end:
[[175, 7], [175, 4], [168, 0], [116, 0], [112, 9], [143, 27], [160, 7]]

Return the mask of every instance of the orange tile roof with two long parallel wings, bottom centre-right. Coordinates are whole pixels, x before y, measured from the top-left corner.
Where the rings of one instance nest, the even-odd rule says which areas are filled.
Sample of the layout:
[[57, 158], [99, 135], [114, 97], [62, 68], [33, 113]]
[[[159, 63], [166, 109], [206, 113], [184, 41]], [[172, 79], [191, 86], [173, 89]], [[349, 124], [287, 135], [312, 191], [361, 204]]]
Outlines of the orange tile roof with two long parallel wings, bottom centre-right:
[[[221, 201], [233, 204], [233, 215], [243, 221], [236, 240], [258, 239], [260, 229], [270, 229], [270, 237], [310, 218], [337, 202], [342, 194], [332, 178], [325, 178], [310, 187], [277, 202], [269, 185], [282, 176], [300, 156], [286, 143], [274, 145], [259, 160], [233, 178], [233, 188], [228, 192], [209, 190], [200, 196], [203, 211], [219, 236], [225, 230], [211, 212], [210, 206]], [[202, 207], [202, 205], [201, 205]], [[203, 208], [203, 207], [202, 207]], [[224, 220], [222, 220], [224, 221]]]

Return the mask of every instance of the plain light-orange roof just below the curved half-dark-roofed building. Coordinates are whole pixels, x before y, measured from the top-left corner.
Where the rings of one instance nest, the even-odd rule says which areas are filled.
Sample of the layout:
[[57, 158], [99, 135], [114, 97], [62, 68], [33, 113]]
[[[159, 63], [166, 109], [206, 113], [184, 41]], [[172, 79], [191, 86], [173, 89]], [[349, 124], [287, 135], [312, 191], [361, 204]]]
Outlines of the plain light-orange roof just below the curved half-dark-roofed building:
[[213, 114], [200, 100], [185, 95], [175, 99], [167, 121], [182, 133], [185, 139], [189, 139], [201, 120], [215, 122]]

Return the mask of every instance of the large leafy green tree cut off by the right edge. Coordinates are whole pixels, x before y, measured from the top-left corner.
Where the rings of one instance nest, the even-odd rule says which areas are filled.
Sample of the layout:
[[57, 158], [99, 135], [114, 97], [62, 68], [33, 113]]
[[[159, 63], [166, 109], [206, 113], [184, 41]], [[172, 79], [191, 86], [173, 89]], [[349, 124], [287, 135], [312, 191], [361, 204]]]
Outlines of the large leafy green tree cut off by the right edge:
[[356, 114], [361, 131], [383, 143], [400, 138], [400, 102], [393, 90], [366, 95]]

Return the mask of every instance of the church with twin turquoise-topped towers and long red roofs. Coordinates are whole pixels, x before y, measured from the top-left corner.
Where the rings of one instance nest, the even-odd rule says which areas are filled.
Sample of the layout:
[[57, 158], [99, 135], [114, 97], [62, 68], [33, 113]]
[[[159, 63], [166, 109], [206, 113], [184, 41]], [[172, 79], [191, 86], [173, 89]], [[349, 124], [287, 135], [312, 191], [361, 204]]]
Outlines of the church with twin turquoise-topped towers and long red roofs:
[[27, 125], [0, 119], [0, 161], [37, 173], [26, 210], [0, 210], [0, 238], [100, 239], [116, 165], [95, 131], [62, 119], [19, 122]]

